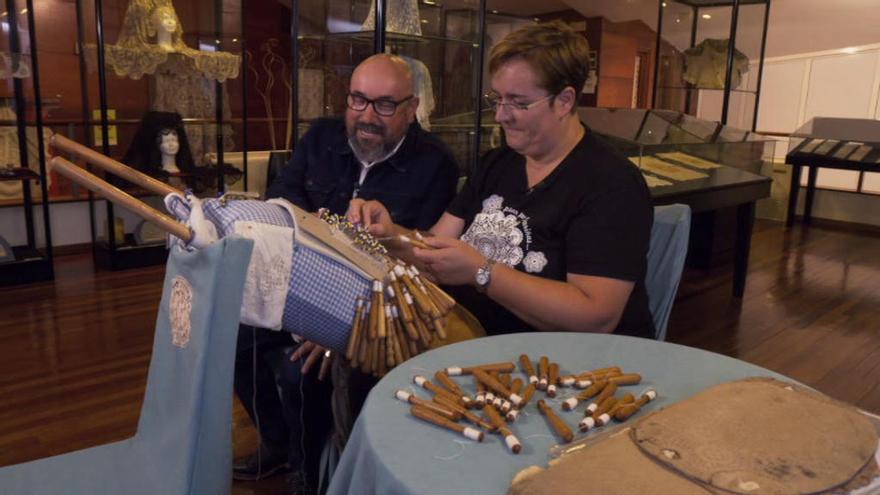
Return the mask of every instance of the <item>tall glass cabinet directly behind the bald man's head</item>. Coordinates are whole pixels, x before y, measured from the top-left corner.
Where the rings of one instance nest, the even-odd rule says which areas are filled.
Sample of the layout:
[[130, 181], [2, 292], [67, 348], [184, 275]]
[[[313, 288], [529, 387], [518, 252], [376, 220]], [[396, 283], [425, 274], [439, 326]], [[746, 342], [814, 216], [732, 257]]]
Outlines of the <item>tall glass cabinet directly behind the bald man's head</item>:
[[[297, 2], [294, 119], [342, 115], [354, 68], [373, 53], [413, 68], [422, 127], [449, 146], [463, 171], [478, 156], [485, 0], [305, 0]], [[383, 28], [384, 26], [384, 28]], [[293, 143], [286, 136], [288, 146]]]

